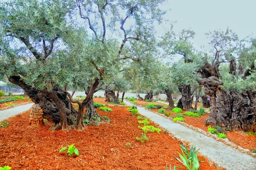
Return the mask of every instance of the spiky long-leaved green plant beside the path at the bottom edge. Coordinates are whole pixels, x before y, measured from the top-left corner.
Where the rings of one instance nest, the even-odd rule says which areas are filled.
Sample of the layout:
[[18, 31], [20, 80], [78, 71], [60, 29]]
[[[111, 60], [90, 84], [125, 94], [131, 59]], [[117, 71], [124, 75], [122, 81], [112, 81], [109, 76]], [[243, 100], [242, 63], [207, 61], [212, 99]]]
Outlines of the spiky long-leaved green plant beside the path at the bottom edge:
[[187, 147], [180, 145], [182, 155], [180, 155], [180, 159], [176, 157], [178, 161], [180, 161], [184, 166], [186, 166], [187, 170], [198, 170], [199, 168], [199, 160], [198, 160], [198, 150], [195, 150], [194, 146], [190, 147], [188, 150]]

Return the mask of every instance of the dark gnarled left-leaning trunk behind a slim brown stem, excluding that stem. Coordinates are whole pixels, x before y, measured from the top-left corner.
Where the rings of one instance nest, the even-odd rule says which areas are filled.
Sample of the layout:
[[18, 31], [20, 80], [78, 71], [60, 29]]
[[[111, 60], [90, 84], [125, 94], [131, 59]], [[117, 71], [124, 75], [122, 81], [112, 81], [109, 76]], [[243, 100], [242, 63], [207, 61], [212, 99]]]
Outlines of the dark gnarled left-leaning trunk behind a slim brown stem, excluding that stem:
[[[19, 76], [11, 76], [9, 77], [9, 81], [20, 86], [25, 93], [31, 98], [32, 102], [35, 104], [39, 104], [39, 106], [43, 109], [43, 118], [52, 121], [56, 124], [61, 122], [61, 115], [58, 109], [58, 106], [49, 95], [39, 91], [37, 89], [31, 88], [25, 82], [21, 80]], [[65, 91], [58, 87], [57, 84], [53, 84], [54, 88], [52, 92], [61, 100], [63, 104], [63, 109], [67, 115], [67, 124], [72, 125], [72, 120], [76, 119], [77, 111], [70, 105], [70, 100], [67, 98]]]

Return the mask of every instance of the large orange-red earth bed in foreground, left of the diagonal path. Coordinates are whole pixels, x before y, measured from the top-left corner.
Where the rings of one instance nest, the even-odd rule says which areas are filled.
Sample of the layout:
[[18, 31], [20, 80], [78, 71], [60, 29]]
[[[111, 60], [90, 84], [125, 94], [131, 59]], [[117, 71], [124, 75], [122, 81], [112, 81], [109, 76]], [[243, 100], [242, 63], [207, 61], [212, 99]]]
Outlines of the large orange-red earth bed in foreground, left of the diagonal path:
[[[103, 98], [95, 98], [103, 102]], [[29, 111], [7, 119], [9, 125], [0, 129], [0, 166], [11, 166], [13, 170], [165, 170], [172, 164], [181, 166], [180, 142], [166, 133], [147, 133], [148, 143], [136, 141], [142, 130], [138, 119], [132, 117], [126, 107], [108, 106], [113, 111], [103, 112], [111, 123], [87, 126], [81, 132], [50, 131], [51, 123], [40, 127], [29, 127]], [[157, 127], [156, 124], [150, 123]], [[130, 143], [130, 147], [126, 146]], [[75, 144], [79, 156], [69, 157], [58, 151]], [[201, 170], [215, 170], [216, 167], [199, 156]], [[184, 166], [180, 170], [186, 170]]]

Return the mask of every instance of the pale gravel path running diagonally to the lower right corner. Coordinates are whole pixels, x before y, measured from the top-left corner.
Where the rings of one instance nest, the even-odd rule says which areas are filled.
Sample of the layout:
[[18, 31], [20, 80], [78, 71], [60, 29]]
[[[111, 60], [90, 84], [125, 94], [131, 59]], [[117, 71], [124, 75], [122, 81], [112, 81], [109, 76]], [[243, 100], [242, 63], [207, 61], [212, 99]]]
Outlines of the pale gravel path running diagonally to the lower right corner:
[[[133, 104], [126, 102], [126, 105], [132, 106]], [[199, 152], [202, 155], [219, 166], [227, 168], [227, 170], [256, 170], [256, 158], [181, 124], [174, 123], [170, 119], [146, 110], [144, 107], [137, 106], [137, 109], [141, 115], [148, 117], [162, 128], [166, 128], [178, 139], [189, 142], [196, 149], [200, 149]]]

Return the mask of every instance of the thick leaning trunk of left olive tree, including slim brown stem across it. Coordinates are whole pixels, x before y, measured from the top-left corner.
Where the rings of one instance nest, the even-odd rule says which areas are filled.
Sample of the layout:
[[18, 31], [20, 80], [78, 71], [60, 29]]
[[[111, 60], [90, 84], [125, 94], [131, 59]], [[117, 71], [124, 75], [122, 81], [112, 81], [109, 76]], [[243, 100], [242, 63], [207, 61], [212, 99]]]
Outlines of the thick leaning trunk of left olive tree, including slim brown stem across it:
[[11, 76], [9, 81], [20, 86], [35, 104], [39, 104], [45, 119], [58, 124], [54, 130], [68, 130], [68, 126], [73, 124], [77, 111], [72, 107], [65, 91], [57, 84], [52, 83], [52, 91], [39, 91], [25, 84], [19, 76]]

